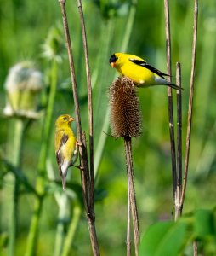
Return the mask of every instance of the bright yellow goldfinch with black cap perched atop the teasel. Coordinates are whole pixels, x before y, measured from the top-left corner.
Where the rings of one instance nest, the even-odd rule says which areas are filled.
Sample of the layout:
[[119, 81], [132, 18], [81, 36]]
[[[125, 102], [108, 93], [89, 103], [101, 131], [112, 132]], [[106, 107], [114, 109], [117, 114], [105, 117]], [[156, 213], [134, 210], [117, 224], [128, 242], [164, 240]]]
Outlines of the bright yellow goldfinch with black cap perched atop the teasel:
[[160, 70], [149, 65], [145, 60], [135, 55], [115, 53], [110, 58], [111, 67], [115, 67], [117, 72], [128, 79], [132, 79], [138, 87], [148, 87], [152, 85], [167, 85], [176, 90], [180, 90], [175, 84], [168, 82]]

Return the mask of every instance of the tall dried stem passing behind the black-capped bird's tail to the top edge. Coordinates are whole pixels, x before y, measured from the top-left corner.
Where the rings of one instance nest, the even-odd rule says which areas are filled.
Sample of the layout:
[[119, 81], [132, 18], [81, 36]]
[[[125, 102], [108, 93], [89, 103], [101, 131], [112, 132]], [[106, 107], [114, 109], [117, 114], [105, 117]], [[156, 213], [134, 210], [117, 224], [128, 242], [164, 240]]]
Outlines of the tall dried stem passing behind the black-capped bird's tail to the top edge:
[[[167, 51], [167, 67], [168, 75], [171, 75], [171, 39], [170, 39], [170, 21], [169, 21], [169, 3], [164, 0], [165, 13], [165, 32], [166, 32], [166, 51]], [[171, 81], [171, 76], [168, 78]], [[169, 121], [169, 135], [171, 144], [171, 159], [172, 159], [172, 173], [173, 173], [173, 198], [176, 197], [177, 177], [176, 177], [176, 153], [174, 141], [174, 126], [173, 126], [173, 95], [172, 89], [168, 87], [168, 121]]]

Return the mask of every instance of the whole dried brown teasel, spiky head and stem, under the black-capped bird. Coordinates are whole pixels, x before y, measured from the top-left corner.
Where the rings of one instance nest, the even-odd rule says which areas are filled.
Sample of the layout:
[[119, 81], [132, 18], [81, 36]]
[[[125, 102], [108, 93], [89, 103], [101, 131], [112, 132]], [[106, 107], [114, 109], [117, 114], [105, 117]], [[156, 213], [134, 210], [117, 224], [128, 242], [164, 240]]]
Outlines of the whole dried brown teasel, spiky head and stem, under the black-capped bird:
[[[128, 195], [133, 220], [135, 255], [138, 255], [139, 247], [139, 218], [134, 189], [134, 167], [132, 157], [132, 137], [141, 134], [141, 117], [139, 99], [133, 81], [126, 77], [118, 78], [113, 82], [109, 90], [111, 107], [111, 133], [114, 137], [123, 137], [127, 175]], [[128, 220], [130, 212], [128, 212]], [[128, 221], [128, 225], [130, 221]], [[128, 230], [129, 230], [128, 226]], [[128, 232], [127, 232], [128, 237]], [[128, 239], [127, 239], [128, 242]], [[128, 247], [128, 244], [127, 244]], [[130, 247], [128, 247], [129, 250]], [[129, 251], [127, 250], [128, 255]]]

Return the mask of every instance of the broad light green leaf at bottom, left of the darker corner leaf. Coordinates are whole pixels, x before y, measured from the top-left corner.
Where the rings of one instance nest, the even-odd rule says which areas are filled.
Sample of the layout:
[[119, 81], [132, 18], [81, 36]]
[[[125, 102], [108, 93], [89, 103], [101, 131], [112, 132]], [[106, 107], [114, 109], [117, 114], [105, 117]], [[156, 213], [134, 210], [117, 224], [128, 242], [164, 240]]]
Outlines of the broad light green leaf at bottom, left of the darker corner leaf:
[[176, 256], [185, 244], [186, 224], [173, 221], [151, 225], [143, 236], [139, 256]]

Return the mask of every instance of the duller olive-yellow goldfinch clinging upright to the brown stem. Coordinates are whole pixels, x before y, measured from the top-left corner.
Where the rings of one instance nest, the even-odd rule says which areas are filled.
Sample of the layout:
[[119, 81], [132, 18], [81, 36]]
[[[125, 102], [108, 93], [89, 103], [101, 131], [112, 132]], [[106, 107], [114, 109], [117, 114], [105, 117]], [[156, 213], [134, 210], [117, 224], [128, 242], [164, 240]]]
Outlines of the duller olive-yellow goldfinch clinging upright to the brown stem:
[[68, 167], [77, 160], [77, 139], [71, 129], [72, 121], [74, 119], [69, 114], [62, 114], [55, 121], [54, 148], [64, 190]]

